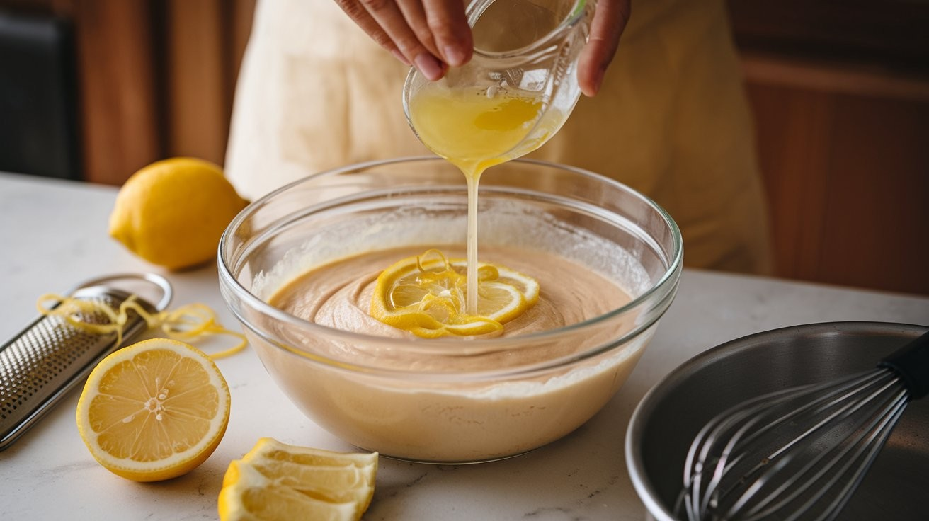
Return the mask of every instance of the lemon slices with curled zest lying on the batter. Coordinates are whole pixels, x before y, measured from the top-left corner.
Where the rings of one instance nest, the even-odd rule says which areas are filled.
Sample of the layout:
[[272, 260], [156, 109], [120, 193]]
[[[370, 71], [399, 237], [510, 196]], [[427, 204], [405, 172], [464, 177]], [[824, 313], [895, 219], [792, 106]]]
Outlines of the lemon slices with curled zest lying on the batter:
[[539, 283], [513, 269], [478, 266], [478, 313], [467, 314], [464, 259], [445, 258], [438, 250], [407, 257], [377, 278], [371, 316], [424, 338], [476, 336], [502, 332], [539, 300]]

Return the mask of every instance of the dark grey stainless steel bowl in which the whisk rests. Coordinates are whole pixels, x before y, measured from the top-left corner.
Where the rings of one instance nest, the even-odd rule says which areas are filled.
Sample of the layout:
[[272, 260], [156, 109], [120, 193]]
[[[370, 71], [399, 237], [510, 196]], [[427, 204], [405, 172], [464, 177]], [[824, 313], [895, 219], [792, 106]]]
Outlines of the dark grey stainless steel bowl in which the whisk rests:
[[[703, 424], [750, 397], [874, 367], [927, 328], [829, 322], [760, 332], [691, 358], [642, 399], [626, 434], [635, 491], [653, 519], [674, 517], [687, 449]], [[929, 400], [909, 404], [839, 519], [929, 519]]]

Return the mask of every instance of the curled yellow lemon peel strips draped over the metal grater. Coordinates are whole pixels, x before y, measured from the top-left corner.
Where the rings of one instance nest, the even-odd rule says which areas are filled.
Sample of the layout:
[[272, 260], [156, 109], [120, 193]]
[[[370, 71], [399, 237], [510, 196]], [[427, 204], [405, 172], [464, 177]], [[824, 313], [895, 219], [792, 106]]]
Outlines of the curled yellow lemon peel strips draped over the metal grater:
[[[123, 330], [129, 319], [130, 310], [135, 311], [141, 319], [145, 320], [149, 329], [161, 328], [162, 332], [172, 339], [193, 341], [212, 334], [226, 334], [239, 339], [238, 344], [207, 355], [215, 360], [235, 355], [248, 345], [244, 334], [226, 329], [216, 320], [216, 312], [213, 308], [200, 303], [150, 313], [138, 303], [137, 295], [134, 294], [129, 295], [118, 308], [114, 309], [99, 301], [46, 293], [39, 297], [36, 308], [44, 316], [59, 317], [72, 327], [84, 332], [116, 333], [117, 345], [123, 344]], [[89, 317], [98, 317], [102, 321], [100, 323], [90, 322]]]

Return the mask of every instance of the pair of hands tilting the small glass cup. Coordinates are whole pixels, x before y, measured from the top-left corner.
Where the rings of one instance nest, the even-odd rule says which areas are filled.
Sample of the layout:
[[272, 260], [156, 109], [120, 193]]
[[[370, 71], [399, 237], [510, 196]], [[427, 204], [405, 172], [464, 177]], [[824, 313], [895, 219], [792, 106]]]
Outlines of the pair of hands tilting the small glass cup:
[[[375, 42], [435, 81], [471, 59], [474, 40], [461, 0], [335, 0]], [[578, 62], [581, 91], [593, 97], [616, 54], [631, 0], [598, 0]]]

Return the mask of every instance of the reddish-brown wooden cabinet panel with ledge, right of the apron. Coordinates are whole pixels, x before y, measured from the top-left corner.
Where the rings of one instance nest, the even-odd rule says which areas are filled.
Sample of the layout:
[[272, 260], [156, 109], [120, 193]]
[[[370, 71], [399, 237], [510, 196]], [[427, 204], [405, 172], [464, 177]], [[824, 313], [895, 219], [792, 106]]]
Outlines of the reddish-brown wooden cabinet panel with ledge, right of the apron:
[[744, 70], [775, 274], [929, 294], [929, 82], [771, 57]]

